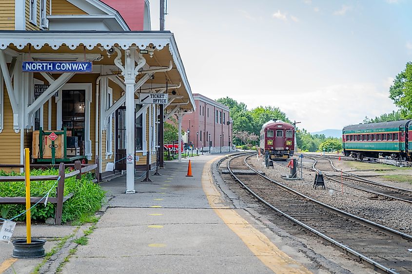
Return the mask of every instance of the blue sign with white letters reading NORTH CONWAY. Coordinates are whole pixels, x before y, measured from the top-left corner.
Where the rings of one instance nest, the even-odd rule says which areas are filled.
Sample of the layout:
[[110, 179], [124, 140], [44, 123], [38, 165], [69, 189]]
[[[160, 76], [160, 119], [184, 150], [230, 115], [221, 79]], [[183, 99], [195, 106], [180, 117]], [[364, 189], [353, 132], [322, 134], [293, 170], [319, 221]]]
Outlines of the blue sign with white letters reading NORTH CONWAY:
[[91, 73], [92, 62], [25, 61], [23, 72], [29, 73]]

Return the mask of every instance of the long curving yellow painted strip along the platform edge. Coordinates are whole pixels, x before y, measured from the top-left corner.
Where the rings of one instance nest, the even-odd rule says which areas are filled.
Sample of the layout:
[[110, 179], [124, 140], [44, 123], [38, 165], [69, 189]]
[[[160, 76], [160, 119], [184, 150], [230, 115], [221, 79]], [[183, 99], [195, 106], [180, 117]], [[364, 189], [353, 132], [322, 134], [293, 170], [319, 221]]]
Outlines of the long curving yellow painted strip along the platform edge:
[[[222, 157], [222, 156], [220, 156]], [[243, 219], [234, 209], [224, 205], [220, 192], [216, 189], [211, 165], [217, 157], [207, 162], [202, 173], [202, 187], [210, 206], [226, 225], [245, 243], [250, 251], [275, 273], [311, 273], [304, 266], [281, 251], [268, 237]]]

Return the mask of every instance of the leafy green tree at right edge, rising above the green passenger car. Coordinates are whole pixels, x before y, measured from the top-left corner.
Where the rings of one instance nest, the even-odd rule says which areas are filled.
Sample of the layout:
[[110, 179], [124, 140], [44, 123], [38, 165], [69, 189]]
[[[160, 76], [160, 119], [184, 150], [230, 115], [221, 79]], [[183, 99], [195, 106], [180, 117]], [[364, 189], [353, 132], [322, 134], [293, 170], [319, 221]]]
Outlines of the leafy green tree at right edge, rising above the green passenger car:
[[400, 108], [404, 118], [412, 118], [412, 62], [393, 80], [389, 88], [389, 98]]

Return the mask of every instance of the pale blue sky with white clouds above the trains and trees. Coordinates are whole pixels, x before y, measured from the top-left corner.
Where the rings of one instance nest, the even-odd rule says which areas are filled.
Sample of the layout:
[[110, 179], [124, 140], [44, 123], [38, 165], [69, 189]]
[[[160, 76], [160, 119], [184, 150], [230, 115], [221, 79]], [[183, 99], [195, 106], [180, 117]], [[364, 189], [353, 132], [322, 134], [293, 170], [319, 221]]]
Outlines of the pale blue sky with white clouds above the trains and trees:
[[[152, 30], [158, 0], [150, 2]], [[412, 0], [168, 0], [193, 93], [278, 107], [310, 132], [397, 110]]]

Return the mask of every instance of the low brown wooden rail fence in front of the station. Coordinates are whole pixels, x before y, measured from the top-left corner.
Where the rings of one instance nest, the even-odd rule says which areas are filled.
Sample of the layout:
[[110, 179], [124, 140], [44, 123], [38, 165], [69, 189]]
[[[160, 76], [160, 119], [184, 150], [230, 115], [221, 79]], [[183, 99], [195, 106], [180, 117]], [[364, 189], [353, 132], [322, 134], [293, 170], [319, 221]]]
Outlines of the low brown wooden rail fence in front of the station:
[[[30, 167], [37, 167], [38, 165], [30, 165]], [[67, 166], [73, 166], [74, 170], [70, 173], [65, 173]], [[22, 164], [0, 164], [1, 168], [21, 168], [24, 167]], [[39, 165], [39, 167], [50, 168], [50, 165]], [[94, 171], [96, 174], [96, 179], [94, 182], [99, 181], [99, 169], [98, 164], [81, 164], [80, 161], [76, 161], [75, 164], [63, 164], [59, 165], [59, 175], [43, 175], [43, 176], [30, 176], [30, 181], [56, 181], [56, 197], [49, 197], [48, 202], [56, 203], [56, 215], [55, 215], [55, 224], [61, 224], [61, 215], [63, 211], [63, 203], [70, 199], [75, 193], [70, 193], [64, 196], [64, 181], [68, 178], [76, 176], [77, 179], [81, 178], [81, 174]], [[0, 182], [24, 182], [24, 176], [0, 176]], [[30, 203], [39, 202], [43, 197], [30, 197]], [[0, 197], [0, 204], [25, 204], [25, 197]]]

